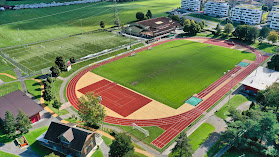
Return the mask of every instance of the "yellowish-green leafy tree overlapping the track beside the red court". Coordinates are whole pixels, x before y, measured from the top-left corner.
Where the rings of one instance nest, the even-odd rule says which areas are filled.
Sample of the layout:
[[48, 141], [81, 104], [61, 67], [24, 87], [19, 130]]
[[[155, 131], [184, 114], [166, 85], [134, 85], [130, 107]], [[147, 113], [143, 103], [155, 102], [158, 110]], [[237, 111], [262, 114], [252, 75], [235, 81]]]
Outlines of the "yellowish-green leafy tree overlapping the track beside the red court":
[[95, 125], [104, 120], [105, 108], [99, 101], [94, 93], [87, 93], [78, 100], [79, 116], [88, 125]]

